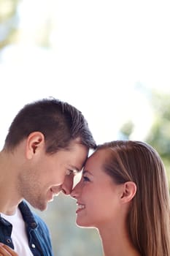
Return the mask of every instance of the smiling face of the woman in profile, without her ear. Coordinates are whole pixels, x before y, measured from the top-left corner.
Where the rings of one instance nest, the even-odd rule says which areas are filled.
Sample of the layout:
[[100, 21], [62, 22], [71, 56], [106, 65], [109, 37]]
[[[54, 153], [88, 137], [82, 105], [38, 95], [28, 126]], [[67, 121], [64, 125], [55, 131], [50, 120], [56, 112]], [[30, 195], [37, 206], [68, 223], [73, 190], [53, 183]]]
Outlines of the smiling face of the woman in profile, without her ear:
[[74, 187], [72, 197], [77, 200], [77, 225], [102, 227], [120, 215], [121, 184], [104, 172], [108, 151], [101, 149], [93, 153], [85, 163], [80, 182]]

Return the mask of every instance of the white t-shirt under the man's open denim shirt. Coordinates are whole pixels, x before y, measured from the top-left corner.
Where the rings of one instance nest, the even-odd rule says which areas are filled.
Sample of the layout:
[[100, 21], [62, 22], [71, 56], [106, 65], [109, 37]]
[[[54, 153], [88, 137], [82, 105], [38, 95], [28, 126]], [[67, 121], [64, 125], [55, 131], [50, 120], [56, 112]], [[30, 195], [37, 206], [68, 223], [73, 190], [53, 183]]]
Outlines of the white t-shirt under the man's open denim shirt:
[[17, 208], [17, 211], [14, 215], [1, 214], [1, 217], [7, 219], [8, 222], [12, 224], [12, 242], [14, 244], [15, 252], [18, 255], [33, 256], [31, 249], [28, 246], [28, 237], [26, 234], [26, 225], [23, 221], [22, 214], [20, 209]]

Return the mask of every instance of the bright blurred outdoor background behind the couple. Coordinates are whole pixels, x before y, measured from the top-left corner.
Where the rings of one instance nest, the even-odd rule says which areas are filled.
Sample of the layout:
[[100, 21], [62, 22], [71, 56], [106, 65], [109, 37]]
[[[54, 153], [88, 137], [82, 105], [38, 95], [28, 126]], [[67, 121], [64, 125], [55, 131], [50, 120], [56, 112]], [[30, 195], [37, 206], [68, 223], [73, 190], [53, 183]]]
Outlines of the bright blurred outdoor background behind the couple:
[[[97, 143], [151, 143], [169, 174], [169, 1], [0, 0], [0, 147], [28, 102], [79, 108]], [[96, 230], [74, 225], [60, 195], [44, 213], [58, 256], [101, 256]]]

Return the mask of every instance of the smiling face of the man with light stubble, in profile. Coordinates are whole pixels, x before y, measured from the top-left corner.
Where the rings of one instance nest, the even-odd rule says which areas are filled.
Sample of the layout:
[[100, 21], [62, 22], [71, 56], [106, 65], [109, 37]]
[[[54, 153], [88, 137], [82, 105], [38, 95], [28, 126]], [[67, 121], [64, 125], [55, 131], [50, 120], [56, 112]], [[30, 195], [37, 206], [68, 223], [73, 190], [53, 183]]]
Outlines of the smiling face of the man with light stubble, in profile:
[[82, 170], [88, 148], [72, 142], [69, 151], [55, 154], [39, 150], [33, 159], [27, 161], [18, 176], [19, 192], [34, 208], [44, 211], [47, 203], [61, 190], [69, 195], [72, 191], [74, 173]]

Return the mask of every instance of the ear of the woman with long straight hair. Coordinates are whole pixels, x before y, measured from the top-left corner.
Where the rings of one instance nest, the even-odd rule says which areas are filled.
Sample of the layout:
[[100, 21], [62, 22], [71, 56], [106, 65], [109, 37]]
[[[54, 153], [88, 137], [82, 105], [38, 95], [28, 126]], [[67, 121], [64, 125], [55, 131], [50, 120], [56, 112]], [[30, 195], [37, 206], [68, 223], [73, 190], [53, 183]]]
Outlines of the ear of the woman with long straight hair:
[[123, 184], [123, 193], [121, 195], [121, 202], [128, 203], [136, 195], [136, 184], [133, 181], [127, 181]]

